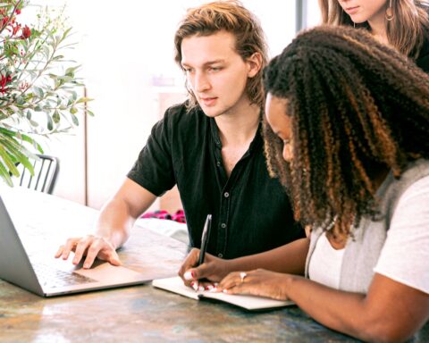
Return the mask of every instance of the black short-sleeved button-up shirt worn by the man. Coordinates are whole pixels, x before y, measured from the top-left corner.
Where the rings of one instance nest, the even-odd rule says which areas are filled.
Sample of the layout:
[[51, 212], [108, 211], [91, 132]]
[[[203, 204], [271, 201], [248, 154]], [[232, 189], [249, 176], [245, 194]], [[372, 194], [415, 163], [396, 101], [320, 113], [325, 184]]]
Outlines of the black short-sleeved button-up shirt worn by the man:
[[199, 108], [173, 106], [152, 129], [128, 177], [156, 196], [177, 184], [190, 247], [200, 247], [208, 213], [210, 254], [230, 259], [280, 247], [304, 231], [293, 221], [280, 182], [268, 175], [260, 129], [228, 178], [214, 119]]

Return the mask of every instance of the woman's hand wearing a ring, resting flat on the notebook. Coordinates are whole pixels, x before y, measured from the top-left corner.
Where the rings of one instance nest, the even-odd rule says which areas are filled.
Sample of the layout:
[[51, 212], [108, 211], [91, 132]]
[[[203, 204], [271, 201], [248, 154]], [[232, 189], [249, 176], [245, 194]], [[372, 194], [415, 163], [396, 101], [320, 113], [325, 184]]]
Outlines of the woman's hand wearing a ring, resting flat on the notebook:
[[228, 294], [249, 294], [288, 300], [288, 280], [293, 277], [281, 272], [257, 269], [251, 272], [231, 272], [217, 286], [218, 291]]

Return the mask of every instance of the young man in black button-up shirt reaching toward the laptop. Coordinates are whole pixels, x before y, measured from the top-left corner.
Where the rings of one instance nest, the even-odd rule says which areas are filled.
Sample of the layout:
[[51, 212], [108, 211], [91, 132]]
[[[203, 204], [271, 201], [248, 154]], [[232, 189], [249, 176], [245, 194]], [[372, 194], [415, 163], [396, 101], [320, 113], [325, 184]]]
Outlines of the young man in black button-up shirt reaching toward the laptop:
[[156, 197], [177, 184], [189, 244], [200, 247], [213, 215], [207, 252], [222, 258], [256, 254], [302, 237], [264, 157], [261, 108], [265, 40], [257, 19], [237, 2], [191, 9], [175, 35], [175, 60], [186, 73], [189, 100], [154, 126], [122, 187], [104, 206], [97, 233], [71, 238], [57, 257], [86, 255], [120, 264], [115, 249]]

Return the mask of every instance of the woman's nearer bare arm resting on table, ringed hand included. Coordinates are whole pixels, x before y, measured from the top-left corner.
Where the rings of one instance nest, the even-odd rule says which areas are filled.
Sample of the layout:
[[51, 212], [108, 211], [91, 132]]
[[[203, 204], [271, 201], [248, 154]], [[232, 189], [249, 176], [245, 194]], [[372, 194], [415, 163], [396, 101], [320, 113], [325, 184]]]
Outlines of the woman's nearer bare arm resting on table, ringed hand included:
[[228, 275], [218, 289], [291, 299], [325, 326], [366, 341], [403, 341], [429, 319], [429, 295], [375, 274], [367, 295], [331, 289], [296, 275], [257, 270]]

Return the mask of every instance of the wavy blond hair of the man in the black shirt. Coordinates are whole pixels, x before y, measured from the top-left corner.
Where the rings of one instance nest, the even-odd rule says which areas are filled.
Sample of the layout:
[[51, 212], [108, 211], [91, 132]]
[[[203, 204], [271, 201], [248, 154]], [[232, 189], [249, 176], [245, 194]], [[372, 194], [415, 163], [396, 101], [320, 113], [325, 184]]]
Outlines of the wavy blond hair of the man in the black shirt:
[[[180, 23], [174, 36], [174, 59], [181, 66], [181, 42], [192, 36], [210, 36], [218, 31], [227, 31], [236, 39], [235, 50], [243, 60], [258, 53], [262, 56], [260, 71], [248, 79], [246, 92], [252, 104], [264, 105], [262, 87], [263, 69], [268, 61], [264, 31], [259, 21], [239, 1], [216, 1], [191, 8]], [[187, 84], [189, 108], [198, 105], [197, 99]]]

